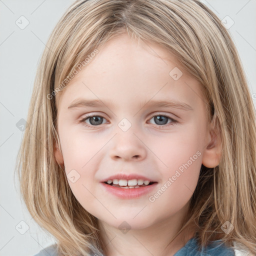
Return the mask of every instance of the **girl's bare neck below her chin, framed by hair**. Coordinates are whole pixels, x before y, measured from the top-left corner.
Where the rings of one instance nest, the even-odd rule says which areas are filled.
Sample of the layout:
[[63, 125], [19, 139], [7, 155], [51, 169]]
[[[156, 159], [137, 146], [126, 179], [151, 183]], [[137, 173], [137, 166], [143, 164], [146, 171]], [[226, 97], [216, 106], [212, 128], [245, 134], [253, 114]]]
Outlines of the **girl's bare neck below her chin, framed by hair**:
[[[190, 225], [172, 240], [181, 228], [188, 205], [185, 208], [185, 211], [182, 209], [171, 217], [155, 221], [153, 225], [143, 229], [130, 229], [127, 232], [122, 232], [118, 227], [110, 226], [100, 220], [98, 223], [105, 256], [174, 255], [194, 235], [194, 228]], [[183, 215], [180, 216], [182, 212]]]

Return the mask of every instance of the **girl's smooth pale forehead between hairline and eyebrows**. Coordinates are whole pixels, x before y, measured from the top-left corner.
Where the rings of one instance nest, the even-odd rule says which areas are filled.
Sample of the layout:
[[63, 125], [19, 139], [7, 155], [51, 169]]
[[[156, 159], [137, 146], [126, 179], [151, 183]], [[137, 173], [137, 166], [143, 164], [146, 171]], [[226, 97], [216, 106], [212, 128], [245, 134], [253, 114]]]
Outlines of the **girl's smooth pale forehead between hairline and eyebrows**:
[[127, 34], [108, 40], [69, 82], [69, 99], [119, 101], [131, 105], [149, 99], [179, 99], [193, 106], [203, 101], [200, 83], [178, 59], [156, 43], [131, 39]]

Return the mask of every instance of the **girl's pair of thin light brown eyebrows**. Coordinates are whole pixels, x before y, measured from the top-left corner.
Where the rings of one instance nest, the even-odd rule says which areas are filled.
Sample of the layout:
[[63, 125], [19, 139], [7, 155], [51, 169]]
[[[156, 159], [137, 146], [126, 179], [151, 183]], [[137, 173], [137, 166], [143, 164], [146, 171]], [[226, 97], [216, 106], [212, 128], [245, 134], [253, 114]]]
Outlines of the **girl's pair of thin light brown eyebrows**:
[[[88, 99], [76, 99], [74, 100], [67, 108], [72, 109], [75, 107], [100, 107], [100, 106], [107, 106], [111, 105], [105, 104], [103, 101], [99, 99], [88, 100]], [[193, 110], [193, 108], [186, 104], [185, 102], [176, 101], [176, 100], [148, 100], [147, 102], [141, 105], [143, 108], [145, 105], [147, 106], [156, 106], [156, 107], [172, 107], [180, 110]]]

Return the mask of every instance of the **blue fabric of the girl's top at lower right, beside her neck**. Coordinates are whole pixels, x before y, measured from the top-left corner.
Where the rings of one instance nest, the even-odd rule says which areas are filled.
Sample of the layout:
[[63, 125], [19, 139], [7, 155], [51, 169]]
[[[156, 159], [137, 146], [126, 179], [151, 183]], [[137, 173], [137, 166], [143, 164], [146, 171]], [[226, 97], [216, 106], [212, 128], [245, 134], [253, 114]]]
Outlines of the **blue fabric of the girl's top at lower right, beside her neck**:
[[198, 250], [198, 244], [195, 238], [187, 241], [184, 247], [179, 249], [174, 256], [235, 256], [232, 248], [226, 247], [220, 241], [214, 241], [201, 251]]

